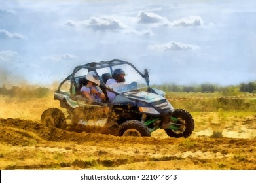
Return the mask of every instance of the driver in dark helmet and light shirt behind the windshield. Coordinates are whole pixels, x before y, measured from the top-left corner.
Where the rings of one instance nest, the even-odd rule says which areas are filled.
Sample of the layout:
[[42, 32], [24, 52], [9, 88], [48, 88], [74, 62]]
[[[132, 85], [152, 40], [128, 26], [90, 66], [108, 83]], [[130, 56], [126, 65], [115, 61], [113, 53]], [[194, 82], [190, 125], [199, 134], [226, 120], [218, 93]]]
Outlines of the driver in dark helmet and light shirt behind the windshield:
[[[125, 78], [124, 78], [125, 75], [126, 74], [125, 74], [124, 70], [115, 69], [113, 71], [112, 78], [107, 80], [106, 86], [110, 86], [112, 84], [116, 84], [116, 83], [120, 83], [120, 82], [125, 82]], [[115, 99], [115, 93], [109, 92], [107, 90], [107, 97], [109, 97], [109, 101], [113, 102]]]

